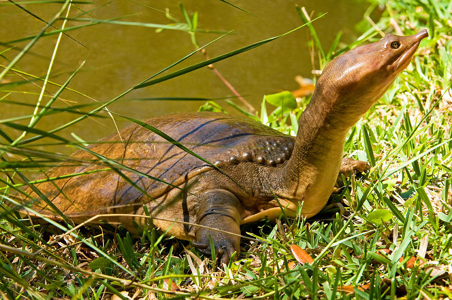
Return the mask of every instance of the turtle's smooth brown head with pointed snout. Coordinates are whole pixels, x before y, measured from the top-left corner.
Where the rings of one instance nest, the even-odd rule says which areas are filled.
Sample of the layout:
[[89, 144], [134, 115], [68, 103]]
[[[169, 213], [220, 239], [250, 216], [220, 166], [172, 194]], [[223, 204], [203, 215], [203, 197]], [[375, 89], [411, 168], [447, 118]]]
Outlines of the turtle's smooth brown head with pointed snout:
[[337, 56], [323, 69], [316, 88], [323, 99], [331, 99], [332, 107], [356, 110], [361, 117], [408, 66], [427, 36], [425, 29], [411, 36], [388, 34]]

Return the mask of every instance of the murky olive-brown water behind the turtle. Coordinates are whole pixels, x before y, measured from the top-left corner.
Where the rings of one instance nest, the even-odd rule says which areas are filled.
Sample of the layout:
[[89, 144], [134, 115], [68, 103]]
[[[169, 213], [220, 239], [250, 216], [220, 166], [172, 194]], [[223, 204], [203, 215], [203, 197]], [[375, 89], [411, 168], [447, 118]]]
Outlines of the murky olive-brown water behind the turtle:
[[[94, 1], [94, 3], [89, 5], [77, 4], [76, 6], [83, 11], [89, 11], [107, 2]], [[169, 8], [173, 18], [179, 21], [183, 20], [176, 1], [152, 1], [143, 2], [143, 4], [152, 8], [132, 1], [117, 0], [91, 11], [89, 15], [84, 15], [81, 18], [106, 20], [122, 17], [118, 21], [168, 24], [173, 21], [168, 20], [165, 14], [158, 10], [164, 11]], [[356, 39], [357, 34], [354, 26], [362, 19], [365, 10], [368, 8], [368, 4], [365, 2], [355, 3], [350, 0], [334, 2], [328, 0], [234, 1], [234, 4], [258, 17], [218, 0], [183, 1], [183, 5], [189, 14], [198, 12], [198, 29], [226, 32], [234, 30], [233, 34], [208, 46], [207, 54], [210, 57], [227, 53], [298, 27], [302, 22], [295, 9], [296, 4], [306, 7], [308, 12], [315, 11], [314, 17], [321, 13], [327, 13], [326, 16], [314, 23], [314, 27], [326, 49], [329, 48], [339, 31], [343, 31], [344, 34], [342, 41], [349, 43]], [[47, 21], [52, 19], [60, 7], [61, 4], [24, 5], [25, 9]], [[69, 15], [76, 16], [80, 13], [80, 10], [72, 7]], [[86, 21], [72, 21], [66, 24], [66, 28], [86, 23]], [[61, 20], [55, 23], [57, 27], [61, 25]], [[0, 41], [3, 43], [35, 35], [44, 26], [43, 22], [16, 6], [0, 7]], [[47, 31], [50, 31], [50, 29]], [[99, 24], [68, 31], [67, 35], [63, 36], [61, 40], [50, 80], [62, 84], [67, 80], [70, 73], [77, 69], [82, 61], [85, 61], [81, 71], [72, 79], [69, 87], [98, 102], [109, 101], [195, 49], [189, 34], [186, 32], [166, 30], [156, 33], [155, 28], [140, 26]], [[196, 34], [200, 45], [204, 45], [218, 36], [219, 34], [211, 33]], [[264, 94], [284, 89], [296, 89], [298, 86], [294, 81], [296, 75], [308, 78], [312, 76], [311, 58], [307, 47], [308, 38], [307, 29], [303, 28], [264, 46], [216, 63], [215, 67], [253, 106], [259, 108]], [[45, 76], [56, 40], [57, 35], [41, 38], [31, 48], [31, 52], [17, 63], [17, 68], [35, 76]], [[12, 43], [11, 45], [18, 47], [3, 53], [3, 55], [10, 60], [13, 59], [29, 41]], [[8, 49], [11, 45], [0, 46], [0, 52]], [[172, 70], [203, 60], [204, 57], [197, 53]], [[0, 58], [0, 61], [2, 65], [9, 63], [5, 58]], [[3, 83], [29, 78], [25, 75], [6, 76]], [[11, 91], [11, 94], [4, 99], [25, 104], [36, 104], [38, 95], [30, 93], [39, 94], [41, 86], [42, 81], [7, 85], [6, 87], [4, 85], [4, 90]], [[48, 93], [53, 93], [57, 90], [57, 87], [48, 84], [46, 90]], [[0, 97], [6, 94], [4, 92]], [[108, 109], [144, 120], [170, 112], [195, 111], [205, 101], [145, 101], [137, 99], [154, 97], [223, 98], [232, 95], [233, 93], [210, 69], [202, 68], [151, 87], [135, 90], [114, 105], [108, 106]], [[67, 101], [66, 104], [57, 101], [54, 107], [65, 107], [67, 104], [95, 103], [92, 99], [71, 91], [63, 92], [61, 98]], [[43, 104], [48, 99], [48, 97], [44, 97]], [[234, 99], [234, 101], [240, 105], [237, 99]], [[223, 100], [217, 102], [225, 109], [234, 112]], [[1, 102], [0, 105], [2, 106], [0, 109], [1, 119], [31, 114], [34, 109], [33, 107], [2, 104]], [[86, 112], [95, 107], [96, 105], [80, 110]], [[50, 130], [70, 122], [78, 116], [70, 113], [49, 115], [40, 120], [36, 127], [41, 130]], [[114, 132], [114, 124], [109, 116], [106, 113], [101, 113], [100, 116], [105, 118], [85, 119], [59, 134], [65, 138], [70, 138], [70, 133], [74, 132], [84, 140], [93, 141]], [[120, 128], [128, 123], [119, 117], [115, 117], [115, 119]], [[23, 124], [28, 124], [28, 122], [29, 120], [24, 120]], [[7, 131], [15, 136], [19, 134], [19, 132], [10, 129]], [[46, 148], [48, 151], [49, 149], [53, 149], [50, 151], [65, 153], [73, 151], [61, 146]]]

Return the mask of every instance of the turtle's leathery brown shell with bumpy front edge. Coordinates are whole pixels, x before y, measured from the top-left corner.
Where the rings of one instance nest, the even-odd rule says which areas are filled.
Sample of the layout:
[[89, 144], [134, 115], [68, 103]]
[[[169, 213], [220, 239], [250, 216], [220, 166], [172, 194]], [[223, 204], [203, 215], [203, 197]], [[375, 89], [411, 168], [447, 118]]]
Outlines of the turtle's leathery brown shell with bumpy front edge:
[[[293, 137], [250, 118], [220, 113], [170, 114], [145, 123], [219, 168], [243, 162], [276, 166], [290, 157], [294, 145]], [[46, 172], [46, 177], [60, 179], [36, 185], [68, 217], [108, 213], [112, 208], [118, 212], [117, 208], [131, 204], [141, 206], [213, 168], [137, 124], [87, 149], [98, 155], [79, 150], [71, 155], [75, 165], [71, 160]], [[28, 192], [38, 199], [33, 204], [35, 210], [55, 215], [34, 192]]]

